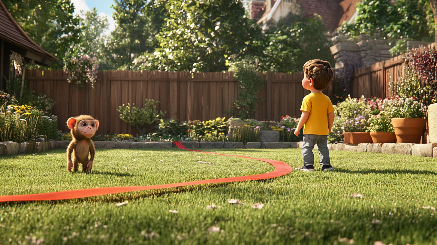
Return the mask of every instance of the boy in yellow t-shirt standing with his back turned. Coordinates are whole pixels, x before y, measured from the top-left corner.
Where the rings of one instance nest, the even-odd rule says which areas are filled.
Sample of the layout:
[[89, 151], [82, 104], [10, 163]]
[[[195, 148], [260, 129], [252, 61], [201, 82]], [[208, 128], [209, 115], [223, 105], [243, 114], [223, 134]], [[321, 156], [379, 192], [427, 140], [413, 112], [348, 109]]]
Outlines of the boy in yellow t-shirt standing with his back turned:
[[299, 131], [303, 126], [302, 157], [304, 166], [301, 169], [314, 171], [312, 149], [317, 144], [322, 171], [332, 171], [334, 168], [329, 160], [326, 141], [334, 122], [334, 107], [328, 96], [322, 93], [322, 90], [331, 84], [334, 72], [329, 62], [312, 59], [303, 66], [303, 74], [302, 87], [311, 91], [311, 94], [302, 100], [302, 116], [295, 130], [295, 135], [299, 136]]

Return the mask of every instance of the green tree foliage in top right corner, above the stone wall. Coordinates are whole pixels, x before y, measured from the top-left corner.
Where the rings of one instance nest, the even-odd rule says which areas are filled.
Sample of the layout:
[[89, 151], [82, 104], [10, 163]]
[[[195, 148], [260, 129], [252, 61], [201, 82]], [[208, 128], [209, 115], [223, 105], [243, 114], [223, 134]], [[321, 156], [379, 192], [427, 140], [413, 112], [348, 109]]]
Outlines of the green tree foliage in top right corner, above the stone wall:
[[434, 40], [434, 17], [428, 0], [361, 0], [355, 22], [340, 33], [356, 37], [381, 33], [385, 38]]

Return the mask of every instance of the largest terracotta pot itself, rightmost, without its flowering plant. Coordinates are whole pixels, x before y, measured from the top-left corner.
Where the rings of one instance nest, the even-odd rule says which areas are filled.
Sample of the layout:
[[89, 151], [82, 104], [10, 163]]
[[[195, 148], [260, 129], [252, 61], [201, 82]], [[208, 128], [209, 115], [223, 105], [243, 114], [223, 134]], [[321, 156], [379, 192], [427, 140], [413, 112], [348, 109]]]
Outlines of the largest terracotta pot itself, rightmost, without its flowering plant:
[[424, 118], [392, 118], [397, 143], [420, 143], [425, 123]]

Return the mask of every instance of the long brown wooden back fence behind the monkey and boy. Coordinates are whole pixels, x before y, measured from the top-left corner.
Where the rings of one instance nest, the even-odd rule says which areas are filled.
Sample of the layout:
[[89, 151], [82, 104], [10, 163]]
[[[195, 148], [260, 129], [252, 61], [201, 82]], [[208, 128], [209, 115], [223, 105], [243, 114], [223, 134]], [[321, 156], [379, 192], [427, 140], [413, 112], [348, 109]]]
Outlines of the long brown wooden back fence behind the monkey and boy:
[[[28, 70], [26, 79], [35, 94], [55, 100], [52, 114], [58, 127], [67, 131], [71, 116], [89, 114], [99, 119], [98, 133], [138, 132], [119, 118], [118, 106], [135, 103], [142, 107], [146, 98], [160, 101], [158, 109], [166, 118], [206, 121], [223, 117], [237, 98], [238, 82], [230, 72], [188, 73], [158, 71], [99, 72], [93, 88], [78, 89], [66, 81], [62, 70]], [[254, 119], [280, 120], [299, 117], [302, 99], [309, 91], [302, 88], [303, 73], [261, 73], [267, 83], [259, 92]], [[333, 85], [327, 95], [333, 95]]]

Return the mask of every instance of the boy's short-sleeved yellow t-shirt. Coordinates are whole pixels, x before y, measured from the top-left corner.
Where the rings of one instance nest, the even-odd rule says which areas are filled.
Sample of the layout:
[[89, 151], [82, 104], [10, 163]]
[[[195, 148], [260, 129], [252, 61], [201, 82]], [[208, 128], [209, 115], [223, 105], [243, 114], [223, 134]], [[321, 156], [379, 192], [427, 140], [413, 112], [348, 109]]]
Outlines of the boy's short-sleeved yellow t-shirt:
[[302, 100], [301, 111], [309, 112], [303, 134], [328, 135], [328, 113], [334, 111], [331, 100], [323, 93], [311, 93]]

